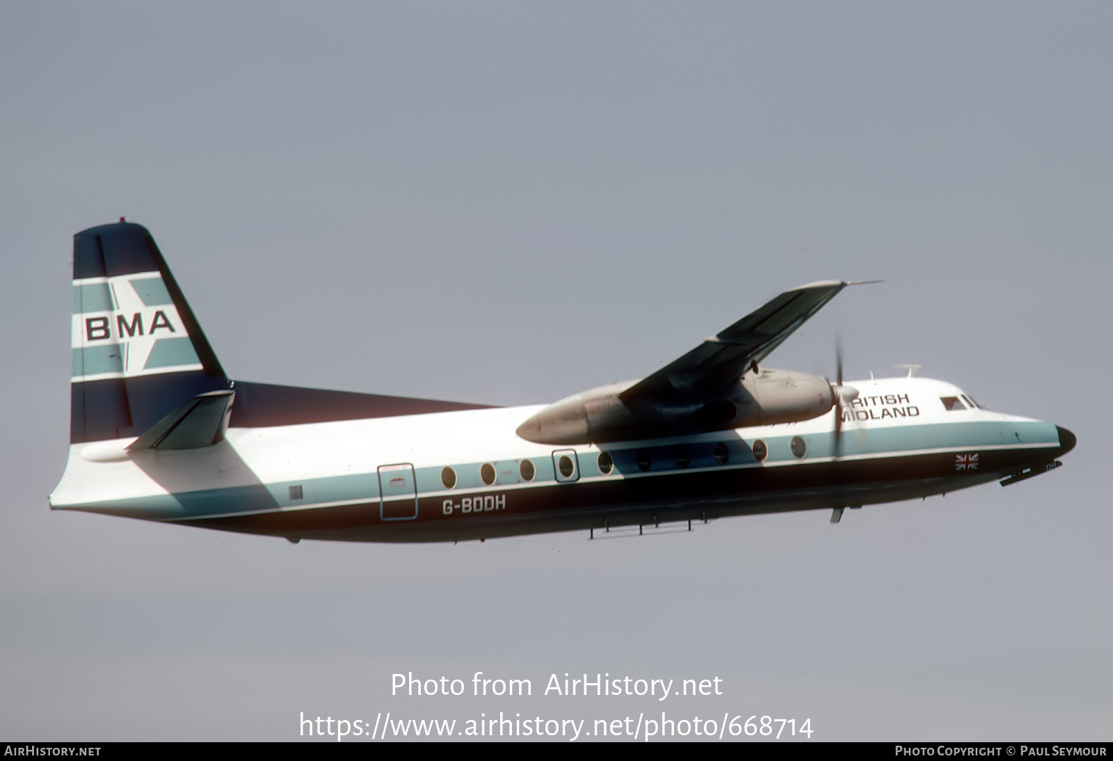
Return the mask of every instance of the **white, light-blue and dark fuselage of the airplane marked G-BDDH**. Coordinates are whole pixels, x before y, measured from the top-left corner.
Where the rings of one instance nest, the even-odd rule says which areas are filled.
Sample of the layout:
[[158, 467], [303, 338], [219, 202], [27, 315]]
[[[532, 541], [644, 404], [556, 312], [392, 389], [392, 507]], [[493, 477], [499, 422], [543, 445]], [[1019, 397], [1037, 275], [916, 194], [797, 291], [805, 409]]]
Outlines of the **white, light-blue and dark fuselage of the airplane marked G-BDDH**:
[[835, 413], [567, 447], [514, 433], [541, 406], [232, 427], [198, 449], [73, 444], [50, 502], [292, 540], [443, 541], [890, 502], [1062, 451], [1055, 425], [974, 407], [947, 383], [847, 385], [858, 398], [837, 442]]

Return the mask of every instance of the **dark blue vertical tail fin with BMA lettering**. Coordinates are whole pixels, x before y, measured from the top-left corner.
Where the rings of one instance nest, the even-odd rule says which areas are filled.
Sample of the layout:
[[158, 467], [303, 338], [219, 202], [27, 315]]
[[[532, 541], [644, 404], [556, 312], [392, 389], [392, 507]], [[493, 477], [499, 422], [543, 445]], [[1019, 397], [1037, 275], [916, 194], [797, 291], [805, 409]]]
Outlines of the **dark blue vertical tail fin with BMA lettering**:
[[141, 225], [73, 236], [70, 443], [139, 436], [198, 394], [229, 388]]

